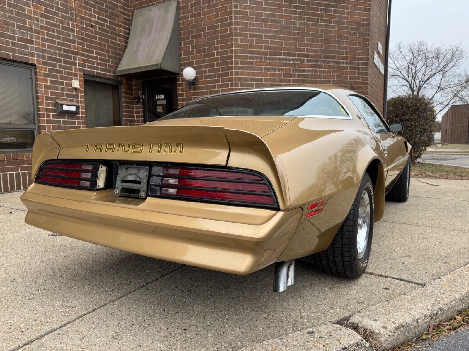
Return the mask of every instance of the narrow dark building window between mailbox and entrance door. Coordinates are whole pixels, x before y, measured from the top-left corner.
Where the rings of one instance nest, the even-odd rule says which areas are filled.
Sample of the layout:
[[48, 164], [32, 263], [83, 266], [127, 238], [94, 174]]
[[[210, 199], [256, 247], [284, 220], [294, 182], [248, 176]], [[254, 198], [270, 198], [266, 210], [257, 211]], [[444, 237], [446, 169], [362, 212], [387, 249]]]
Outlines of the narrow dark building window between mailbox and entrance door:
[[121, 125], [122, 103], [119, 81], [85, 76], [86, 127]]

